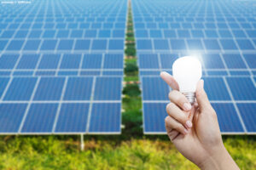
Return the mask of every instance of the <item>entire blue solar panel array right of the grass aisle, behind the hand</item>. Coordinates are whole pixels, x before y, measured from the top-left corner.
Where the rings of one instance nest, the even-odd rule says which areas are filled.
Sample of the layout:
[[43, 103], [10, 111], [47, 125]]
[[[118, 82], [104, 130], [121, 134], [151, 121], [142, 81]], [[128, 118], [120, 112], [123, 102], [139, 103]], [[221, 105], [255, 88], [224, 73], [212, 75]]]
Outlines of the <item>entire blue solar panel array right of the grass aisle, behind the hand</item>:
[[171, 90], [159, 75], [197, 55], [222, 133], [256, 133], [255, 1], [133, 0], [144, 133], [166, 133]]

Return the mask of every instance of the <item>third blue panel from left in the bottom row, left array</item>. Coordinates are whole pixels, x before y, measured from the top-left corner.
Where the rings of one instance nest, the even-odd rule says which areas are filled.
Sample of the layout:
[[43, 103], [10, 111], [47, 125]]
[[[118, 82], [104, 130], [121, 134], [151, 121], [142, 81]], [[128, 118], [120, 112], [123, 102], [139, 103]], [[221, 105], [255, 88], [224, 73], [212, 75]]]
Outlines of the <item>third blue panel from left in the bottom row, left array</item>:
[[88, 113], [89, 104], [62, 104], [55, 133], [85, 133]]

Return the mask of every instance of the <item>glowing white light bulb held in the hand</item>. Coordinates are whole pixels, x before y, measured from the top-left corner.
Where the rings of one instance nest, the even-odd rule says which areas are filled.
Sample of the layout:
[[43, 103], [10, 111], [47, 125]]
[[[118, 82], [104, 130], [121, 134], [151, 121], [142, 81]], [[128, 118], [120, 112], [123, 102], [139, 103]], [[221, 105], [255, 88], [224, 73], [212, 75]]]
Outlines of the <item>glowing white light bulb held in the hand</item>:
[[191, 56], [176, 59], [172, 65], [172, 75], [178, 84], [179, 91], [189, 99], [191, 104], [194, 104], [196, 85], [201, 79], [201, 62]]

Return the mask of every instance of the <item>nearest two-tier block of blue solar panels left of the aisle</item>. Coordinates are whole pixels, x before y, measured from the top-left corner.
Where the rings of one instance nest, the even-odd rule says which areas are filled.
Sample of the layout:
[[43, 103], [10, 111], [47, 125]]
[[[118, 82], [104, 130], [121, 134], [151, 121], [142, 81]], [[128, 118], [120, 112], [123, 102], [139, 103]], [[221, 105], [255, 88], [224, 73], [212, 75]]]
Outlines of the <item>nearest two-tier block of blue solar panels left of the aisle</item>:
[[120, 132], [122, 77], [0, 80], [0, 133]]

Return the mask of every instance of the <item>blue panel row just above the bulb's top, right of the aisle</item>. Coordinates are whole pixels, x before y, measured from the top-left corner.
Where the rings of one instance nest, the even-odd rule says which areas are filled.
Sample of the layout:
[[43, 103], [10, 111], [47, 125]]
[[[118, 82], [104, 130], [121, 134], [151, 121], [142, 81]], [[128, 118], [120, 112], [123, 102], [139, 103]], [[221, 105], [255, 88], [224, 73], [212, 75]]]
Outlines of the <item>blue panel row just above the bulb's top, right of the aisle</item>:
[[247, 38], [137, 38], [137, 50], [256, 50], [256, 39]]

